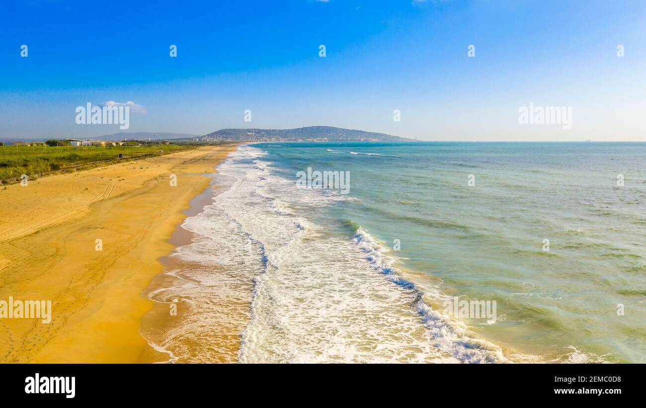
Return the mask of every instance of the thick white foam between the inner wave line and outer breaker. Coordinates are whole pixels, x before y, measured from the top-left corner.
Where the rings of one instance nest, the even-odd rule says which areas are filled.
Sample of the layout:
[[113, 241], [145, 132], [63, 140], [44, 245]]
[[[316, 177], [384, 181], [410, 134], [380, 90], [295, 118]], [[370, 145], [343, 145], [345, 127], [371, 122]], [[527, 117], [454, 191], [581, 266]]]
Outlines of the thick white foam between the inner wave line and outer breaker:
[[[348, 197], [297, 189], [255, 147], [220, 166], [235, 188], [216, 204], [260, 248], [240, 361], [505, 362], [499, 348], [436, 316], [367, 231], [334, 233], [310, 214]], [[298, 208], [295, 211], [293, 208]], [[383, 248], [381, 248], [383, 249]]]

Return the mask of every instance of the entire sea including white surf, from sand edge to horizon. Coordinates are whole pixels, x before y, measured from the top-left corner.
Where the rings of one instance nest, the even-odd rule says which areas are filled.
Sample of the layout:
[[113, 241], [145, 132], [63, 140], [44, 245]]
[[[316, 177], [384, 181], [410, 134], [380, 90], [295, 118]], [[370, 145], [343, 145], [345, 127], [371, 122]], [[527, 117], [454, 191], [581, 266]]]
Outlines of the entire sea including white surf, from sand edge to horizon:
[[646, 362], [644, 143], [246, 144], [216, 170], [150, 295], [191, 305], [169, 361]]

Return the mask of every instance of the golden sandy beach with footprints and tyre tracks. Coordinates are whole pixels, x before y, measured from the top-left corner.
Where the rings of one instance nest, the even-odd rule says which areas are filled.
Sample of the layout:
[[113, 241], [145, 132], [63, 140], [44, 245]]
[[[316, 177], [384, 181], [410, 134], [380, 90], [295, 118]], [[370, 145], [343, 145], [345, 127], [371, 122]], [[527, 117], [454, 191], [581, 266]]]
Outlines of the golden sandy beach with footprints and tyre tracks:
[[[151, 361], [141, 292], [203, 175], [235, 145], [13, 184], [0, 190], [0, 299], [51, 300], [51, 323], [0, 320], [0, 361]], [[176, 186], [171, 186], [176, 175]], [[100, 240], [100, 241], [99, 241]]]

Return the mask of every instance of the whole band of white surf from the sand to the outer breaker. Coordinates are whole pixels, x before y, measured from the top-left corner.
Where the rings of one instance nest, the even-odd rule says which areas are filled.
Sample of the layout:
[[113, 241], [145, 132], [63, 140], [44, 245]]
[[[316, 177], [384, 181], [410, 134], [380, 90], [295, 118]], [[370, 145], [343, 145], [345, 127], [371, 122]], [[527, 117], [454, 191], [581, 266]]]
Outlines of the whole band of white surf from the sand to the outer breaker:
[[167, 271], [178, 284], [151, 298], [186, 302], [190, 313], [149, 339], [156, 349], [172, 361], [215, 361], [242, 332], [245, 363], [506, 361], [428, 306], [424, 294], [439, 293], [404, 279], [367, 231], [349, 239], [298, 215], [348, 197], [297, 189], [264, 156], [240, 147], [214, 176], [227, 188], [185, 220], [196, 238], [172, 255], [183, 265]]

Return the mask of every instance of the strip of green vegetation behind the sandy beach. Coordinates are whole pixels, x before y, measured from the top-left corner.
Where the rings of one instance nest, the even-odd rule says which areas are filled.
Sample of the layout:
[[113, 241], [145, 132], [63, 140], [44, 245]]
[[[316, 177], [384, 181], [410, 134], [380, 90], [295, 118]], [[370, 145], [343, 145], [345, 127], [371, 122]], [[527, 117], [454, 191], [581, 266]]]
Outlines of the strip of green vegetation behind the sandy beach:
[[[52, 142], [53, 145], [50, 145]], [[54, 172], [71, 172], [91, 167], [105, 166], [119, 160], [134, 160], [194, 149], [197, 144], [152, 144], [123, 146], [71, 146], [57, 145], [0, 145], [0, 180], [3, 184], [14, 182], [23, 174], [30, 178]], [[133, 143], [134, 144], [134, 143]], [[123, 159], [119, 155], [123, 154]]]

